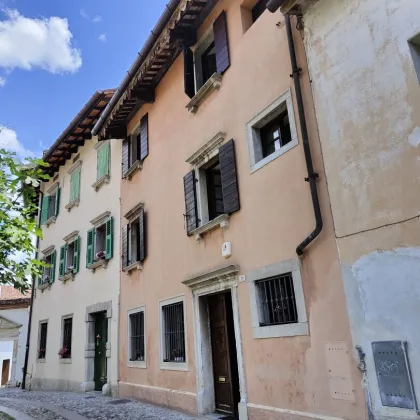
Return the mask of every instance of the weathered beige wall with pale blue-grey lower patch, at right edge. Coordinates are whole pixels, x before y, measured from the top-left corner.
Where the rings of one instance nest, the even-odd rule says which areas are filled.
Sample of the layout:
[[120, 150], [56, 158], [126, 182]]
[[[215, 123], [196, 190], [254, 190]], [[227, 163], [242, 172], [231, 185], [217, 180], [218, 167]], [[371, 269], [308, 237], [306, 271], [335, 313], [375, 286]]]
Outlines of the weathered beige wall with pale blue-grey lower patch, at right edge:
[[382, 401], [372, 343], [407, 342], [418, 398], [419, 14], [415, 0], [319, 0], [304, 13], [353, 344], [366, 353], [369, 408], [381, 419], [418, 417]]

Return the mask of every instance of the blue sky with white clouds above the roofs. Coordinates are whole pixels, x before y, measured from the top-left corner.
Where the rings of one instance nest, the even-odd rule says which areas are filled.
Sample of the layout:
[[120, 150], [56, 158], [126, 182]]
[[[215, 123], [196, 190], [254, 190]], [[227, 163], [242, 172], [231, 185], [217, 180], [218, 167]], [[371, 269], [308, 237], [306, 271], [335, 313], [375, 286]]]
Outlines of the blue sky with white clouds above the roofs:
[[48, 148], [98, 89], [117, 87], [165, 0], [0, 0], [0, 147]]

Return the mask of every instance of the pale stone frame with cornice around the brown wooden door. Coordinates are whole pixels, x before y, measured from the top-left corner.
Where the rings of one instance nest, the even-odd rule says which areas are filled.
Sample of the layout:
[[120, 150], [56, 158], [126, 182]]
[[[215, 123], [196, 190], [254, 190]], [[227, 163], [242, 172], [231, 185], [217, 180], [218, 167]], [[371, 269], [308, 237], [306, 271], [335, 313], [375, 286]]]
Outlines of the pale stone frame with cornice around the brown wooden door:
[[239, 420], [247, 420], [248, 396], [245, 380], [244, 357], [242, 351], [242, 337], [239, 324], [239, 301], [237, 290], [238, 273], [238, 266], [229, 265], [196, 277], [192, 277], [183, 281], [183, 283], [191, 289], [193, 300], [198, 414], [211, 414], [214, 413], [216, 409], [209, 313], [207, 305], [203, 304], [203, 299], [201, 298], [218, 292], [230, 291], [232, 298], [236, 355], [238, 359], [238, 376], [240, 388], [240, 402], [238, 404]]

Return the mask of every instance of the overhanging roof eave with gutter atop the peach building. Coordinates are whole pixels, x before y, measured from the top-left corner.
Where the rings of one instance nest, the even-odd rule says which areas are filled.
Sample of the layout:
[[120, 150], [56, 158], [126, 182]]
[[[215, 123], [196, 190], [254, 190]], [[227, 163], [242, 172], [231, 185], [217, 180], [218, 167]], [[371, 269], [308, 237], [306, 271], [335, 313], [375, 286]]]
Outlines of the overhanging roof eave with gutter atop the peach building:
[[[154, 102], [156, 86], [181, 52], [179, 35], [194, 38], [217, 1], [170, 1], [93, 128], [93, 135], [99, 135], [99, 140], [127, 136], [128, 122], [144, 104]], [[177, 37], [172, 36], [175, 31]]]

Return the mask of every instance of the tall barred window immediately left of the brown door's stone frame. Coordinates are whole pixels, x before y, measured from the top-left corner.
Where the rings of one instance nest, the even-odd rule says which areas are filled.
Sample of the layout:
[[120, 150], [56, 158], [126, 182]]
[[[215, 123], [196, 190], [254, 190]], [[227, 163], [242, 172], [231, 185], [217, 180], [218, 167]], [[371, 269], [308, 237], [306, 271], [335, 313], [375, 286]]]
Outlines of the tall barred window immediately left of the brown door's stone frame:
[[164, 329], [164, 362], [185, 362], [184, 304], [162, 307]]

